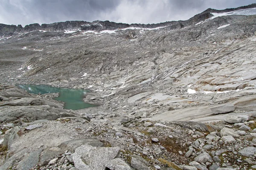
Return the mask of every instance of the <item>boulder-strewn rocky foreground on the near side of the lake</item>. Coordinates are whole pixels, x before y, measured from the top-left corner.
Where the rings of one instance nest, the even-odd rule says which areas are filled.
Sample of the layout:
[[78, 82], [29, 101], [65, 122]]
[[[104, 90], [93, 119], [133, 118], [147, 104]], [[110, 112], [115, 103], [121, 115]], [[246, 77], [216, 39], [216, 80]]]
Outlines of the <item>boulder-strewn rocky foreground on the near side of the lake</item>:
[[207, 124], [163, 122], [143, 118], [145, 110], [67, 111], [47, 101], [52, 94], [31, 96], [16, 87], [2, 87], [0, 95], [1, 170], [256, 168], [255, 112]]

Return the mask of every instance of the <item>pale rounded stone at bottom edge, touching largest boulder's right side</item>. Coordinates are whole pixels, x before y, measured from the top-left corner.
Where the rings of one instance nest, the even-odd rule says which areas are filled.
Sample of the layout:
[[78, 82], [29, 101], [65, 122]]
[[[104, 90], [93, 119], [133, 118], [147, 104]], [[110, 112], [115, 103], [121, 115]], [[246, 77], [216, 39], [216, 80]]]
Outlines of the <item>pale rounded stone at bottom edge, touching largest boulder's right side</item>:
[[129, 164], [120, 158], [112, 159], [108, 161], [105, 166], [110, 170], [132, 170]]

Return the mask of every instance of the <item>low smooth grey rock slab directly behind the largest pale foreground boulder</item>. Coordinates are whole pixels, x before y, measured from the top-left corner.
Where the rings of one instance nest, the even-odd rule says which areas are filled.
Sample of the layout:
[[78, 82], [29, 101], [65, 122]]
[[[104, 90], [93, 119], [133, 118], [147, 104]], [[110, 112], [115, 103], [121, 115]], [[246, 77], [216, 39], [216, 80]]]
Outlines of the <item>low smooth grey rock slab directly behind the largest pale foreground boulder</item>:
[[89, 144], [93, 147], [102, 147], [104, 144], [100, 142], [97, 139], [93, 138], [81, 138], [81, 139], [73, 139], [70, 141], [66, 141], [60, 144], [60, 148], [62, 150], [69, 150], [71, 152], [74, 152], [77, 147], [84, 145], [84, 144]]

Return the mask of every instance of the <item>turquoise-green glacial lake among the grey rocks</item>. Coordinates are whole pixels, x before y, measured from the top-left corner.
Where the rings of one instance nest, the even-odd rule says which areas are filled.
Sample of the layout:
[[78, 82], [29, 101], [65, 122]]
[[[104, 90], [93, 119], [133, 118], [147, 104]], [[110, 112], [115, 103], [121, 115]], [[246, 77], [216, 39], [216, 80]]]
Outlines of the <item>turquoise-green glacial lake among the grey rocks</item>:
[[97, 105], [92, 105], [85, 103], [83, 101], [84, 94], [88, 91], [82, 89], [73, 89], [73, 88], [57, 88], [49, 85], [16, 85], [18, 88], [21, 88], [28, 93], [33, 94], [47, 94], [47, 93], [58, 93], [59, 96], [53, 99], [57, 101], [64, 102], [65, 109], [79, 110], [84, 108], [96, 107]]

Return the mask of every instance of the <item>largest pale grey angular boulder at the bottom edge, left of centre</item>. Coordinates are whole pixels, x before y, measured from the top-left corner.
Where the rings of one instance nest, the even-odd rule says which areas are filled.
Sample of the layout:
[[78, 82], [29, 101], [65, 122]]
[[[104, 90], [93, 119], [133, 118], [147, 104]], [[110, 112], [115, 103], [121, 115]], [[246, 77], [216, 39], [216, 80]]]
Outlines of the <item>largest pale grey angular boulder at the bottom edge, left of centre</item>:
[[92, 147], [84, 144], [76, 148], [72, 158], [79, 170], [105, 170], [108, 162], [118, 157], [119, 153], [119, 147]]

